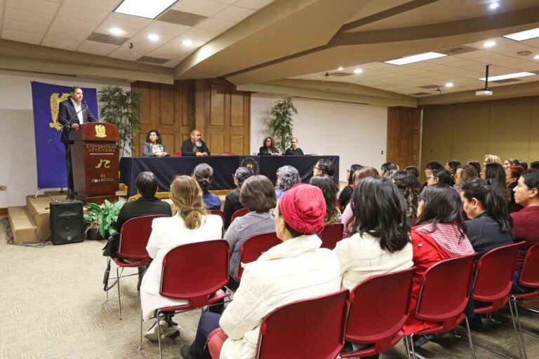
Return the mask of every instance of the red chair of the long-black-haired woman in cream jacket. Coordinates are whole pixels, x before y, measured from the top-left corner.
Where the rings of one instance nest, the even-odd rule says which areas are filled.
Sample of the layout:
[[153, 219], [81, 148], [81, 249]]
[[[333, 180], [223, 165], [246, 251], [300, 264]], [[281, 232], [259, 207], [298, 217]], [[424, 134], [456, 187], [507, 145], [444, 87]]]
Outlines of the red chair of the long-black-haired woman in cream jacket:
[[384, 353], [404, 337], [415, 267], [373, 276], [350, 292], [345, 340], [372, 344], [355, 353], [342, 351], [341, 358]]

